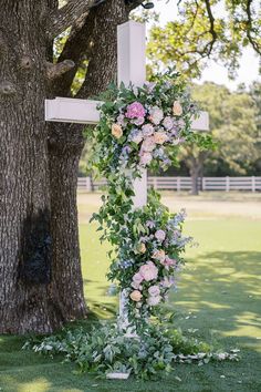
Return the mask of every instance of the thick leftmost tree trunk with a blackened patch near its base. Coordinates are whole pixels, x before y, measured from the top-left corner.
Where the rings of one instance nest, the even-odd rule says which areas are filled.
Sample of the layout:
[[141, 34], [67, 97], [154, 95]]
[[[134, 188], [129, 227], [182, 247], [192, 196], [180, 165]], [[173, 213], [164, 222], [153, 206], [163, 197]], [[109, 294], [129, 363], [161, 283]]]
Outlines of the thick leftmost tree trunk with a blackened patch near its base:
[[0, 1], [0, 333], [61, 326], [51, 281], [45, 1]]

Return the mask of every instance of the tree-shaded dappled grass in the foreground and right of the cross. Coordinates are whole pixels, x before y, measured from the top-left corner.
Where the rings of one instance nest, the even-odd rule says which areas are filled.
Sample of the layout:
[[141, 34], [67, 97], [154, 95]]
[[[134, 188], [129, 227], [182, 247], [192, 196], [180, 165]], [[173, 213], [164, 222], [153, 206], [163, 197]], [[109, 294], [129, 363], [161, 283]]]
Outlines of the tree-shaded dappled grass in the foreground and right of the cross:
[[[164, 390], [180, 392], [258, 392], [260, 354], [257, 352], [260, 312], [261, 252], [212, 251], [188, 262], [181, 275], [179, 291], [171, 293], [168, 306], [177, 312], [175, 327], [197, 330], [194, 336], [225, 348], [241, 349], [238, 363], [209, 363], [206, 367], [176, 365]], [[194, 269], [192, 269], [194, 268]], [[87, 281], [90, 283], [90, 281]], [[92, 281], [93, 283], [93, 281]], [[94, 310], [90, 317], [115, 314], [113, 303], [87, 301]], [[84, 323], [84, 322], [83, 322]], [[92, 322], [90, 322], [91, 324]], [[79, 322], [81, 324], [81, 322]], [[88, 374], [74, 375], [71, 364], [58, 363], [32, 352], [21, 351], [22, 338], [0, 337], [0, 386], [4, 392], [85, 392], [85, 391], [163, 391], [163, 383], [101, 381]], [[180, 381], [175, 379], [178, 376]], [[95, 385], [95, 386], [94, 386]]]

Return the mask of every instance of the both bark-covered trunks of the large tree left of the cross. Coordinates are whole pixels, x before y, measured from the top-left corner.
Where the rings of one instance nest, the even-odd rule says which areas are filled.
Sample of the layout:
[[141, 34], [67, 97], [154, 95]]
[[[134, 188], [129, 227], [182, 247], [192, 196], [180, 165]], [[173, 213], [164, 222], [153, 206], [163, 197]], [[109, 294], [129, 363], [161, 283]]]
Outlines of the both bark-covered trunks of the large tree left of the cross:
[[[0, 333], [52, 332], [86, 314], [77, 231], [81, 125], [44, 122], [56, 0], [0, 0]], [[87, 97], [116, 74], [116, 25], [124, 0], [92, 11]], [[67, 90], [66, 90], [67, 91]]]

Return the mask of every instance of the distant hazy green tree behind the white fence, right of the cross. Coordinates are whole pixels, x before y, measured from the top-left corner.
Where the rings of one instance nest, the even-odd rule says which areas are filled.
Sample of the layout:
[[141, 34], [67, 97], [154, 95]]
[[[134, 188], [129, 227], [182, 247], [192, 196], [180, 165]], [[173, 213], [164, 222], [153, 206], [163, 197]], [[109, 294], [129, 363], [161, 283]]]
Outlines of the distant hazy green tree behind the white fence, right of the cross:
[[246, 174], [259, 157], [260, 134], [255, 123], [257, 105], [246, 92], [230, 92], [215, 83], [194, 85], [192, 95], [200, 107], [207, 110], [210, 134], [217, 143], [216, 149], [200, 151], [195, 146], [182, 148], [180, 159], [189, 168], [194, 195], [198, 194], [198, 178], [203, 166], [212, 168], [220, 163], [231, 174]]

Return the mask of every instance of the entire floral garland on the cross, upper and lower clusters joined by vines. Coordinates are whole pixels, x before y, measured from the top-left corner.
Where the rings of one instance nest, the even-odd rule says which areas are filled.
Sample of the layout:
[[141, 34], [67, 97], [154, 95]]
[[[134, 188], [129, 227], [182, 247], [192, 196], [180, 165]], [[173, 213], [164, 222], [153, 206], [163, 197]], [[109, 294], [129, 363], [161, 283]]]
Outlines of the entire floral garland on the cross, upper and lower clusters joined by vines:
[[143, 168], [176, 164], [184, 143], [203, 143], [190, 128], [197, 110], [178, 74], [109, 93], [92, 135], [92, 166], [106, 177], [108, 194], [93, 218], [104, 230], [101, 239], [114, 246], [108, 278], [124, 291], [129, 323], [137, 327], [157, 313], [176, 285], [191, 238], [181, 234], [185, 213], [169, 214], [155, 192], [146, 206], [133, 208], [133, 179]]

